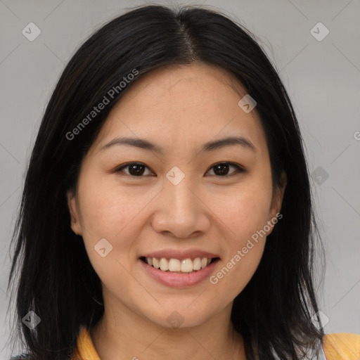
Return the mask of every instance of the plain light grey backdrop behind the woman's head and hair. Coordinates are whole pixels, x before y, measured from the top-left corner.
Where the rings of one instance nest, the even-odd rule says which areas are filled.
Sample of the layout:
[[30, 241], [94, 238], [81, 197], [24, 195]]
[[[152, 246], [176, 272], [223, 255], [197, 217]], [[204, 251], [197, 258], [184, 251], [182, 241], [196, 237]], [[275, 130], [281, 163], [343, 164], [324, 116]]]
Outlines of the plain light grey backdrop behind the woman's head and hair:
[[[200, 4], [157, 1], [156, 4]], [[10, 321], [9, 243], [46, 103], [65, 63], [103, 23], [144, 1], [0, 0], [0, 354]], [[155, 3], [151, 3], [155, 4]], [[326, 248], [326, 333], [360, 334], [360, 1], [204, 1], [254, 32], [295, 106]], [[29, 41], [22, 30], [35, 23]], [[319, 41], [317, 23], [330, 31]], [[314, 31], [325, 34], [321, 27]], [[357, 132], [356, 132], [357, 131]], [[327, 175], [328, 174], [328, 175]], [[319, 177], [321, 176], [321, 177]], [[326, 178], [328, 176], [328, 178]], [[13, 304], [11, 304], [13, 309]], [[326, 319], [324, 318], [324, 319]]]

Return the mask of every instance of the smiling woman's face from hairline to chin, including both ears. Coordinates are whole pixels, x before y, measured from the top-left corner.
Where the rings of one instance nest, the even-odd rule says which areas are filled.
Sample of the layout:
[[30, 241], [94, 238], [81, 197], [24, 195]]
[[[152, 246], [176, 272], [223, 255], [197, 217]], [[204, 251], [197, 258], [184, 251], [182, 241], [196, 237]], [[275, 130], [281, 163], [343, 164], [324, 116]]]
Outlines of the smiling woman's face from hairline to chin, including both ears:
[[[165, 327], [173, 314], [196, 326], [229, 307], [250, 281], [283, 189], [273, 191], [256, 108], [245, 113], [238, 105], [245, 94], [220, 68], [167, 66], [131, 84], [111, 110], [68, 193], [72, 230], [101, 278], [105, 309], [130, 309]], [[243, 139], [205, 147], [229, 136]], [[157, 148], [114, 141], [127, 137]], [[141, 259], [154, 253], [172, 259], [172, 269], [182, 259], [217, 260], [170, 274]]]

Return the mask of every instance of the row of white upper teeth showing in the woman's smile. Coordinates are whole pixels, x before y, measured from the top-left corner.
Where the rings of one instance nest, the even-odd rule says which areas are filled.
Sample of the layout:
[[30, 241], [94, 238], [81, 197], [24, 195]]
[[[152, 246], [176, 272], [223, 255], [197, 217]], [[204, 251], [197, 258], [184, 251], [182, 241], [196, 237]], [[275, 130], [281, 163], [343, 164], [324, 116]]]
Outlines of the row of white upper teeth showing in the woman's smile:
[[207, 257], [195, 257], [195, 259], [166, 259], [162, 257], [157, 259], [155, 257], [146, 257], [146, 262], [155, 267], [155, 269], [160, 269], [162, 271], [181, 271], [184, 273], [191, 273], [194, 270], [204, 269], [207, 265], [210, 264], [212, 259]]

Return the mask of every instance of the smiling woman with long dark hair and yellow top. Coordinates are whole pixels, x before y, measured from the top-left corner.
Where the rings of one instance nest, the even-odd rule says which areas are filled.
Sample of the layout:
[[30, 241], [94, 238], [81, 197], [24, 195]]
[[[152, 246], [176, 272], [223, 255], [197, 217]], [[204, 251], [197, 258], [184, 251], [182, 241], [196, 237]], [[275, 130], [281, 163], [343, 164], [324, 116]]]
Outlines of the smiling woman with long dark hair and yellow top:
[[359, 352], [318, 316], [288, 94], [252, 34], [205, 8], [135, 8], [75, 53], [14, 238], [26, 359]]

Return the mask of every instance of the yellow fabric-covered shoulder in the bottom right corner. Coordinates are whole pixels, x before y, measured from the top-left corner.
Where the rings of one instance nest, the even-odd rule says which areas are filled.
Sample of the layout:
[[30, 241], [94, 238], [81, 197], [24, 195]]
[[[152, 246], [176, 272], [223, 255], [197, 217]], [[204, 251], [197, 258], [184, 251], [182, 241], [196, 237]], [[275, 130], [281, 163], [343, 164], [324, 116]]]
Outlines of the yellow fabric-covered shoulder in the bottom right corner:
[[326, 334], [323, 351], [327, 360], [360, 359], [360, 335], [353, 333]]

